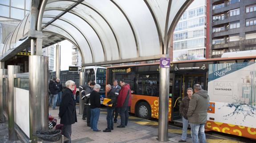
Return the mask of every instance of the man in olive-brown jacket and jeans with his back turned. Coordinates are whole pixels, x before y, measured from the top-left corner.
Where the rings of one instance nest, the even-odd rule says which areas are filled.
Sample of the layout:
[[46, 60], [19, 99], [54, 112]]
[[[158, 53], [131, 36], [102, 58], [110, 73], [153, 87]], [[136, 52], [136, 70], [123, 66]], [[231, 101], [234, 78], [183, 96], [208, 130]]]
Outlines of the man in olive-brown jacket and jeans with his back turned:
[[206, 143], [204, 125], [207, 121], [207, 110], [209, 104], [209, 95], [203, 90], [201, 85], [194, 85], [194, 94], [189, 101], [187, 118], [191, 127], [191, 137], [193, 143]]

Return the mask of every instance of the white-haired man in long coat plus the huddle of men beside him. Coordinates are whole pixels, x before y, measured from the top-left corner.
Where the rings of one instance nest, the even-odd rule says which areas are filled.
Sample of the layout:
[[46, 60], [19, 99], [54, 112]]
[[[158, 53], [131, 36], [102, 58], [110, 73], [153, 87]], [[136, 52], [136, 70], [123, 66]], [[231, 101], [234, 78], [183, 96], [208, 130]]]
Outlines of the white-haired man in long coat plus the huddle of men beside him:
[[[107, 98], [111, 99], [105, 105], [107, 106], [107, 128], [104, 132], [111, 132], [114, 129], [114, 123], [117, 122], [118, 113], [121, 117], [121, 124], [117, 128], [125, 128], [128, 124], [129, 107], [131, 105], [131, 90], [130, 85], [126, 84], [124, 80], [114, 80], [113, 86], [106, 85]], [[75, 89], [74, 81], [66, 81], [66, 89], [63, 92], [62, 100], [59, 108], [59, 117], [61, 118], [61, 124], [63, 124], [62, 132], [65, 137], [69, 139], [71, 143], [71, 125], [77, 122], [76, 104], [73, 95]], [[99, 91], [101, 86], [94, 81], [88, 81], [86, 85], [79, 86], [81, 97], [84, 100], [84, 112], [83, 120], [87, 120], [87, 126], [89, 126], [93, 132], [101, 131], [98, 129], [97, 124], [100, 116], [100, 107], [103, 97], [100, 96]], [[109, 106], [111, 105], [112, 106]], [[115, 111], [115, 117], [114, 117]], [[115, 120], [114, 120], [115, 119]]]

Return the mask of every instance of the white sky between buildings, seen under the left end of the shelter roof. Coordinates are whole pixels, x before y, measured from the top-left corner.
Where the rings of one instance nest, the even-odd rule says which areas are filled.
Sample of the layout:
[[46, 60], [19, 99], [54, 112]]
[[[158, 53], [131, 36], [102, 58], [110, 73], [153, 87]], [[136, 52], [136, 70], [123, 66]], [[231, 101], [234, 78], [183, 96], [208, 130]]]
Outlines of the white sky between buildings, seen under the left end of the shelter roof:
[[[54, 45], [54, 71], [56, 64], [56, 45]], [[75, 51], [72, 49], [73, 44], [68, 40], [64, 40], [59, 45], [61, 45], [61, 70], [69, 70], [69, 66], [74, 66], [72, 65], [72, 51]]]

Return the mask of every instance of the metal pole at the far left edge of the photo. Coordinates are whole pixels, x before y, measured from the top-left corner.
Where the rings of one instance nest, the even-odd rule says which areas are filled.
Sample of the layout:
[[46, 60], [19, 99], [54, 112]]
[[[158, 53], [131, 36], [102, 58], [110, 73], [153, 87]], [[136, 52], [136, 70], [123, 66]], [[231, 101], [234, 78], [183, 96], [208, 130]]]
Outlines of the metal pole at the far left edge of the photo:
[[7, 74], [7, 69], [0, 69], [0, 123], [4, 123], [6, 121], [6, 118], [4, 116], [4, 80], [3, 75]]

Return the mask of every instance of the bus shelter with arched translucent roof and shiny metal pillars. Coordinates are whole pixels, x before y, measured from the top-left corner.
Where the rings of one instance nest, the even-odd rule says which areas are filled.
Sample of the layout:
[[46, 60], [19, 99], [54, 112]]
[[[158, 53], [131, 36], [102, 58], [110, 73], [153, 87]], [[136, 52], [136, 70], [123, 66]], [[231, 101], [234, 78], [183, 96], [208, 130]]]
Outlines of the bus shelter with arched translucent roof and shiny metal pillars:
[[[4, 61], [30, 46], [27, 76], [28, 138], [32, 142], [37, 142], [37, 138], [32, 134], [38, 130], [47, 130], [49, 112], [48, 58], [42, 56], [42, 48], [64, 39], [73, 43], [82, 57], [80, 84], [83, 84], [85, 66], [169, 57], [175, 25], [192, 1], [32, 0], [30, 13], [8, 36], [0, 52], [0, 73], [8, 75], [1, 77], [0, 85], [8, 78], [9, 92], [4, 92], [2, 88], [1, 99], [4, 99], [4, 96], [8, 97], [9, 139], [15, 138], [13, 110], [16, 103], [13, 99], [13, 80], [15, 76], [20, 75], [17, 74], [18, 66], [8, 66], [7, 74]], [[160, 70], [158, 129], [160, 141], [167, 140], [169, 70], [169, 68]], [[80, 112], [81, 110], [80, 104]]]

